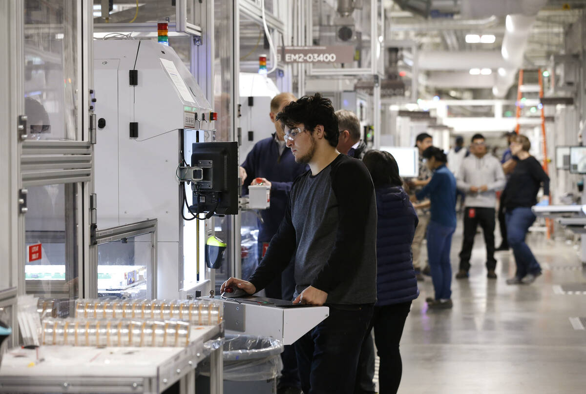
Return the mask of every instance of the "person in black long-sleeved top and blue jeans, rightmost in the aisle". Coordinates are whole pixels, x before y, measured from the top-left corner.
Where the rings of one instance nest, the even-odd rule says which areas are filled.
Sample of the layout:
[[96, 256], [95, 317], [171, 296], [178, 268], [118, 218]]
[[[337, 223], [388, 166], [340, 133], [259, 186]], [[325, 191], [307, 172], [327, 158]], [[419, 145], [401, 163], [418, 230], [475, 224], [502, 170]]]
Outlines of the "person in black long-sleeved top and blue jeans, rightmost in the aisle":
[[541, 275], [541, 267], [525, 242], [529, 227], [536, 217], [531, 207], [537, 204], [537, 192], [543, 184], [543, 200], [540, 204], [549, 204], [549, 177], [537, 159], [529, 154], [531, 142], [524, 135], [511, 139], [511, 153], [519, 160], [503, 192], [505, 218], [507, 223], [507, 241], [513, 249], [517, 272], [507, 279], [507, 284], [533, 283]]

